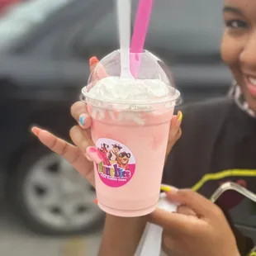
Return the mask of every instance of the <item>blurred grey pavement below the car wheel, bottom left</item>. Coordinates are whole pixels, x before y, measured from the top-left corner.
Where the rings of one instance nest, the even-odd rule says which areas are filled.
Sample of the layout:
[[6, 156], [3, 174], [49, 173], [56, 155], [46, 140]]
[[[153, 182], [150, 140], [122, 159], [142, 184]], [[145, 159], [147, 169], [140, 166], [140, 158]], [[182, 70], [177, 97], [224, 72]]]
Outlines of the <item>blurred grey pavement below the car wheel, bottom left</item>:
[[100, 240], [98, 231], [65, 239], [35, 235], [6, 211], [0, 212], [1, 256], [97, 256]]

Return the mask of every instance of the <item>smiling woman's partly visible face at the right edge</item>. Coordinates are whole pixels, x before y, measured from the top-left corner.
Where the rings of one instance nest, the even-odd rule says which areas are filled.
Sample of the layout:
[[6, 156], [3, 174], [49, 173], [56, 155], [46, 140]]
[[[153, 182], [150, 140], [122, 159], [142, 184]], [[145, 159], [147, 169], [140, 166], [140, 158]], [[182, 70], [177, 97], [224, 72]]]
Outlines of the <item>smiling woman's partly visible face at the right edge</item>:
[[225, 0], [222, 59], [256, 112], [256, 0]]

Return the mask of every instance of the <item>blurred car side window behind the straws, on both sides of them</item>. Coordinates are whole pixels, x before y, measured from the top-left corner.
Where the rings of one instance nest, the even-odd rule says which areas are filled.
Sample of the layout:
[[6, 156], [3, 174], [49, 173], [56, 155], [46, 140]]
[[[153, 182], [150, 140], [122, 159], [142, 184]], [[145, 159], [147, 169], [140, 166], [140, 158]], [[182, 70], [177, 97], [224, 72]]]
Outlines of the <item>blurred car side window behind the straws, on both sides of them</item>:
[[[76, 38], [78, 55], [84, 58], [105, 55], [118, 47], [113, 2], [110, 11], [88, 33]], [[138, 2], [133, 0], [133, 20]], [[222, 4], [223, 0], [154, 1], [145, 48], [160, 56], [165, 55], [166, 50], [173, 55], [219, 55]]]

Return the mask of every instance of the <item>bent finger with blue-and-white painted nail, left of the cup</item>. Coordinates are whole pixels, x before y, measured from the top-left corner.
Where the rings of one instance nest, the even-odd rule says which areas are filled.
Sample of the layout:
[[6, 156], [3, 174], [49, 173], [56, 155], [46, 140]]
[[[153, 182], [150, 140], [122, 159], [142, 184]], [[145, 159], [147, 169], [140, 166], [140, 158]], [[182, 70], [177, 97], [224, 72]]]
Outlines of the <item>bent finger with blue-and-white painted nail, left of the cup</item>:
[[71, 107], [71, 115], [83, 129], [88, 129], [92, 125], [92, 118], [88, 115], [84, 102], [75, 102]]

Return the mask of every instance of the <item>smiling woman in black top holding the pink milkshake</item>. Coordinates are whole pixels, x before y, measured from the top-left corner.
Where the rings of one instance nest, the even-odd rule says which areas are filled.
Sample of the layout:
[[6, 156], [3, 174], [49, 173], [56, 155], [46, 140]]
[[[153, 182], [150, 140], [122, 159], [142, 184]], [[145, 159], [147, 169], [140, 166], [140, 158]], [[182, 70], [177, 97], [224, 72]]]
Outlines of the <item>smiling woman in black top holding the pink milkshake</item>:
[[[227, 181], [234, 181], [256, 192], [256, 1], [224, 2], [225, 32], [221, 55], [236, 80], [233, 97], [183, 108], [183, 136], [173, 147], [164, 169], [164, 183], [175, 187], [193, 187], [206, 197]], [[76, 120], [81, 114], [85, 115], [81, 126], [88, 128], [90, 118], [85, 107], [76, 103], [72, 112]], [[172, 121], [168, 152], [178, 139], [175, 136], [178, 134], [178, 118], [180, 116], [175, 116]], [[74, 168], [93, 183], [92, 165], [88, 164], [83, 154], [93, 157], [93, 150], [88, 147], [92, 145], [88, 130], [78, 126], [71, 130], [71, 138], [78, 148], [66, 145], [46, 131], [35, 131], [45, 145], [63, 153], [66, 158], [69, 155]], [[181, 203], [178, 209], [181, 214], [157, 210], [145, 218], [126, 221], [107, 216], [100, 255], [132, 255], [134, 246], [130, 238], [133, 244], [140, 239], [145, 220], [164, 227], [163, 247], [168, 255], [249, 253], [248, 248], [239, 252], [222, 211], [205, 197], [187, 190], [169, 193], [168, 197]], [[116, 223], [126, 230], [125, 234], [117, 229]], [[111, 242], [120, 237], [124, 239], [120, 244]], [[108, 253], [111, 250], [112, 253]]]

